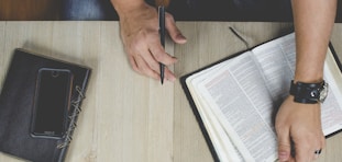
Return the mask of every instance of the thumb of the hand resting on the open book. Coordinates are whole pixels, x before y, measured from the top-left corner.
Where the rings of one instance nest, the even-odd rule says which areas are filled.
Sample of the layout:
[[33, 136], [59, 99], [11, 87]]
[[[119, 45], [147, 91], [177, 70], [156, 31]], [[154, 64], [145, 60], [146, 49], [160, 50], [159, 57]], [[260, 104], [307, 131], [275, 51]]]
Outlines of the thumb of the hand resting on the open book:
[[278, 131], [278, 159], [280, 162], [290, 160], [291, 143], [289, 131]]

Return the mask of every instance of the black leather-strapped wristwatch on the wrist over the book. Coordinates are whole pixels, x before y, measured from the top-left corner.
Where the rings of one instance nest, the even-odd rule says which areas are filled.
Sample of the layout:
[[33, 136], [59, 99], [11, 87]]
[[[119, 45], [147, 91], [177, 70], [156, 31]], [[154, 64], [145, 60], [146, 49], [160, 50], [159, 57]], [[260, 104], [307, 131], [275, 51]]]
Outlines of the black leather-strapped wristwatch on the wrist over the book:
[[319, 83], [295, 83], [293, 80], [289, 94], [295, 96], [297, 103], [323, 103], [328, 95], [328, 83], [324, 80]]

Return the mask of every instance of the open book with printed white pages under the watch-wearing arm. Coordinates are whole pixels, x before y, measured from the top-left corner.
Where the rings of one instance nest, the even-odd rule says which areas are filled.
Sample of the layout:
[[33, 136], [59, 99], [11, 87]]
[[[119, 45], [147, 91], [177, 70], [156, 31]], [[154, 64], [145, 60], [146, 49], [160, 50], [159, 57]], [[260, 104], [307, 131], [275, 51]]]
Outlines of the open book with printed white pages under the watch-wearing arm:
[[[328, 49], [324, 65], [330, 85], [321, 104], [326, 136], [342, 129], [342, 74], [333, 53]], [[295, 62], [291, 33], [181, 78], [214, 159], [277, 159], [274, 117], [288, 95]]]

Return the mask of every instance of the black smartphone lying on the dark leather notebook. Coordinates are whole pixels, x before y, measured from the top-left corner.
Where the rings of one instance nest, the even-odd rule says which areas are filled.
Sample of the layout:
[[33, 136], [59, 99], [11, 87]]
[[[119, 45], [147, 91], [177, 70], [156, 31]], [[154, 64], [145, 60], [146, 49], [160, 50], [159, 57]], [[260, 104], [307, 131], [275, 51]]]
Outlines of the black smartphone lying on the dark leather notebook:
[[38, 70], [31, 135], [62, 138], [67, 128], [73, 73], [67, 69]]

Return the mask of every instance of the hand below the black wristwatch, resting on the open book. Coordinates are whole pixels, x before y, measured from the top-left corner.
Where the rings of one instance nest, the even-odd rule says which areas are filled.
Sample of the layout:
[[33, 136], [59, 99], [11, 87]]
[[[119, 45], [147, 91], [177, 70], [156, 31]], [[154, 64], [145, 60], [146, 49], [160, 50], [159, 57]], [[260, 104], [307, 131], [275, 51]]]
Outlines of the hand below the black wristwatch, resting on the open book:
[[[294, 96], [289, 95], [277, 113], [275, 126], [279, 161], [313, 161], [318, 158], [315, 151], [323, 149], [326, 144], [320, 104], [296, 103]], [[295, 157], [290, 153], [291, 148], [295, 149]]]

